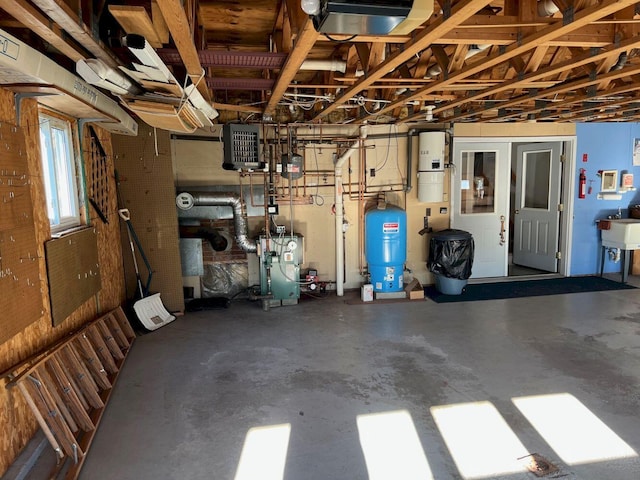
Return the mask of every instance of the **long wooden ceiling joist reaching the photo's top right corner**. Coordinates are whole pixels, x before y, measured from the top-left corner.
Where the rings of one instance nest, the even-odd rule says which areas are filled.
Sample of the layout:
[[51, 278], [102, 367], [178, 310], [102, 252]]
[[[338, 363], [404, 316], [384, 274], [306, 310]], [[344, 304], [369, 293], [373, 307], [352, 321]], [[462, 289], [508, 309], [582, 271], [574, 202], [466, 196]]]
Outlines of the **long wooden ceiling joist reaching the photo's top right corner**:
[[[392, 110], [396, 106], [404, 104], [409, 101], [418, 100], [421, 95], [427, 95], [436, 91], [446, 90], [446, 88], [459, 80], [463, 80], [467, 77], [475, 75], [483, 70], [488, 68], [492, 68], [500, 63], [509, 61], [511, 58], [519, 56], [524, 52], [531, 50], [541, 44], [545, 44], [548, 41], [551, 41], [554, 38], [557, 38], [561, 35], [566, 35], [578, 28], [583, 27], [599, 18], [602, 18], [607, 15], [611, 15], [618, 10], [621, 10], [631, 4], [634, 4], [634, 0], [604, 0], [602, 2], [598, 2], [598, 4], [585, 8], [578, 12], [574, 21], [565, 24], [562, 20], [558, 21], [547, 28], [540, 30], [536, 33], [529, 35], [524, 38], [521, 42], [516, 42], [510, 46], [508, 46], [504, 52], [498, 51], [497, 53], [491, 54], [482, 60], [474, 62], [468, 67], [456, 72], [455, 74], [449, 75], [448, 78], [440, 80], [438, 82], [434, 82], [431, 85], [423, 87], [422, 89], [414, 92], [413, 94], [396, 100], [385, 108], [383, 108], [379, 113], [385, 113], [385, 110]], [[587, 63], [587, 62], [585, 62]], [[494, 92], [495, 93], [495, 92]], [[462, 100], [463, 103], [466, 101], [470, 101], [469, 98], [465, 98]], [[449, 105], [447, 105], [449, 107]], [[449, 107], [452, 108], [452, 107]], [[434, 110], [434, 113], [437, 112], [438, 109]], [[414, 116], [414, 118], [418, 118], [418, 114]]]

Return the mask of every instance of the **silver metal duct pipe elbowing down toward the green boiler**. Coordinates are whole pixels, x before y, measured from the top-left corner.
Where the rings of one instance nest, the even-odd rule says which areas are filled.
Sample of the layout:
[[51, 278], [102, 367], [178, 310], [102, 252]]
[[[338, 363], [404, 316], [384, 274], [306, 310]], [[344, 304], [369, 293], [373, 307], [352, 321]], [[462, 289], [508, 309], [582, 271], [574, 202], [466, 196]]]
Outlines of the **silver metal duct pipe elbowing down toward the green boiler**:
[[248, 227], [242, 205], [242, 198], [231, 192], [181, 192], [176, 197], [176, 205], [182, 210], [192, 207], [231, 207], [236, 243], [247, 253], [256, 253], [258, 245], [247, 237]]

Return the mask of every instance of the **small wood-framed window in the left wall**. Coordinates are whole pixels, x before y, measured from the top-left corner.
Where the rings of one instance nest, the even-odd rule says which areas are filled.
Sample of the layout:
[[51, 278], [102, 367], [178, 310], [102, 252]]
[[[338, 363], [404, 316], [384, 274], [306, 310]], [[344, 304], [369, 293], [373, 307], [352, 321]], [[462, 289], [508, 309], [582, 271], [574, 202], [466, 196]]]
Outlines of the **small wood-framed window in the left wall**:
[[79, 167], [72, 123], [40, 112], [42, 174], [47, 196], [47, 214], [52, 233], [81, 224]]

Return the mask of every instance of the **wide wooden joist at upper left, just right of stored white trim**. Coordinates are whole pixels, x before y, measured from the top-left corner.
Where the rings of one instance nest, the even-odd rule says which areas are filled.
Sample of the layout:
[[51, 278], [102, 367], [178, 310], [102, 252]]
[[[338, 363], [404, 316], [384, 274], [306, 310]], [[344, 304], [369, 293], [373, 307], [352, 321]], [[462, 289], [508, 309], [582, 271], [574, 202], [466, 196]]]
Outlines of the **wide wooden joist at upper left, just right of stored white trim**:
[[189, 25], [187, 14], [182, 8], [180, 0], [157, 0], [157, 2], [176, 48], [180, 53], [182, 63], [187, 69], [187, 75], [189, 75], [194, 85], [197, 85], [197, 89], [204, 99], [207, 102], [211, 102], [211, 93], [204, 79], [205, 72], [200, 64], [198, 50], [193, 43], [191, 25]]

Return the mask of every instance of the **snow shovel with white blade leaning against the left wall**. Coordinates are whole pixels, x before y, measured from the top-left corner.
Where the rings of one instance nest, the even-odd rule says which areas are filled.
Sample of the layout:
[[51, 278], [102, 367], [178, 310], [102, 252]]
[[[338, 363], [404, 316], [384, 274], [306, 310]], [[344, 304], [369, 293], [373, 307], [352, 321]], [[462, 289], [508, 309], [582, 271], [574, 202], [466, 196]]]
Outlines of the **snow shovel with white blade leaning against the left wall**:
[[[140, 248], [140, 242], [137, 235], [135, 234], [135, 231], [133, 230], [133, 226], [131, 225], [131, 215], [129, 214], [129, 210], [126, 208], [122, 208], [118, 210], [118, 215], [120, 215], [120, 218], [122, 218], [127, 225], [127, 237], [129, 238], [129, 245], [131, 247], [131, 256], [133, 257], [133, 268], [136, 272], [136, 282], [138, 283], [138, 290], [140, 291], [140, 300], [133, 304], [133, 310], [136, 312], [136, 316], [138, 317], [138, 320], [140, 320], [140, 323], [142, 323], [142, 326], [144, 328], [150, 331], [157, 330], [158, 328], [165, 326], [167, 323], [171, 323], [172, 321], [174, 321], [176, 317], [171, 315], [167, 311], [167, 309], [164, 308], [159, 293], [146, 296], [149, 293], [151, 267], [149, 265], [149, 262], [147, 261], [147, 257], [142, 251], [142, 248]], [[136, 245], [138, 245], [138, 249], [140, 250], [140, 256], [144, 260], [145, 265], [149, 270], [147, 285], [144, 289], [142, 288], [142, 280], [140, 278], [140, 271], [138, 269], [138, 261], [136, 260], [136, 251], [135, 247], [133, 246], [134, 237], [136, 240]]]

